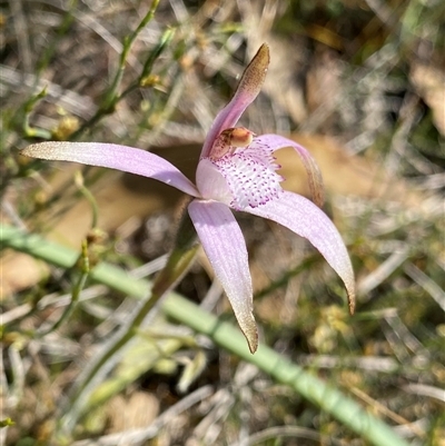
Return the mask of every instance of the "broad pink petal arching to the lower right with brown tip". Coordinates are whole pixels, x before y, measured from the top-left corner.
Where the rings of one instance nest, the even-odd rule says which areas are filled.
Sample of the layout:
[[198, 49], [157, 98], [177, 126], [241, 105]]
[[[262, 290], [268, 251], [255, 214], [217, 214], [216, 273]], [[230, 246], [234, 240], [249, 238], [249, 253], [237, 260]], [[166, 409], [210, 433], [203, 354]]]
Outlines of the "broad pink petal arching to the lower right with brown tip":
[[257, 208], [246, 208], [244, 211], [279, 222], [300, 237], [307, 238], [344, 281], [348, 294], [349, 311], [354, 313], [353, 266], [342, 236], [323, 210], [305, 197], [284, 191], [278, 199]]

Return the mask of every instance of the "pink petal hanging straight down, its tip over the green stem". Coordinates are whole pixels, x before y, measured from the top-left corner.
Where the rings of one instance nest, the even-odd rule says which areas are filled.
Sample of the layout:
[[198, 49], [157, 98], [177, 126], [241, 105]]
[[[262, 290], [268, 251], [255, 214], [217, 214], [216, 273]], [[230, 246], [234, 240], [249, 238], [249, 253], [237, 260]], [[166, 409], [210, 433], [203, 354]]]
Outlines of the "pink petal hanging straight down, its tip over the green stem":
[[188, 212], [202, 248], [221, 283], [250, 351], [258, 347], [246, 242], [230, 209], [217, 201], [194, 200]]

